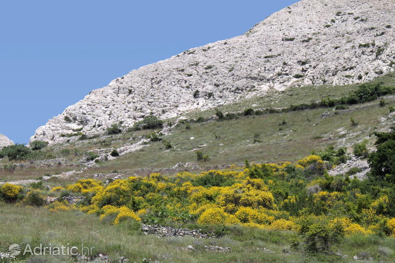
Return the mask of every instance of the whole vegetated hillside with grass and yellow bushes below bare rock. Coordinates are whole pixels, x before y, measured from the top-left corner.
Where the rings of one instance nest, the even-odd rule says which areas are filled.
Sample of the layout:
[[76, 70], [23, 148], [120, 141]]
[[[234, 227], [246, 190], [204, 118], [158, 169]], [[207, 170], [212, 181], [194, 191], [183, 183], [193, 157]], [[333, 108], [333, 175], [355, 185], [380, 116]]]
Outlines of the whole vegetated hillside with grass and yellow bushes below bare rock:
[[[166, 120], [173, 126], [156, 140], [146, 139], [160, 128], [124, 127], [116, 134], [70, 137], [60, 145], [42, 143], [36, 150], [24, 145], [2, 149], [0, 252], [11, 243], [83, 242], [111, 262], [120, 256], [144, 263], [149, 262], [144, 258], [160, 263], [349, 262], [354, 255], [395, 262], [395, 177], [380, 172], [381, 164], [391, 166], [384, 159], [391, 155], [392, 144], [385, 142], [389, 148], [383, 146], [382, 153], [387, 155], [376, 155], [376, 170], [363, 181], [352, 178], [359, 168], [346, 170], [346, 176], [327, 173], [351, 159], [354, 146], [365, 139], [358, 144], [358, 161], [366, 163], [381, 136], [374, 132], [394, 126], [394, 76], [382, 76], [368, 86], [390, 92], [374, 97], [363, 93], [367, 99], [343, 103], [341, 98], [355, 95], [360, 86], [270, 91], [217, 110], [192, 112], [183, 121]], [[323, 99], [331, 105], [322, 104]], [[305, 104], [306, 109], [254, 111], [292, 104]], [[253, 110], [243, 114], [248, 108]], [[224, 118], [196, 121], [218, 111]], [[239, 113], [227, 114], [231, 111]], [[391, 136], [384, 137], [393, 140]], [[142, 140], [135, 151], [98, 160], [103, 152], [134, 147]], [[204, 159], [198, 159], [197, 151]], [[312, 151], [318, 156], [307, 157]], [[180, 162], [192, 164], [174, 167]], [[42, 181], [44, 175], [47, 181]], [[30, 179], [38, 183], [4, 184]], [[85, 199], [43, 207], [47, 196]], [[213, 231], [215, 237], [157, 238], [144, 235], [141, 222]], [[206, 250], [210, 245], [232, 249]], [[19, 257], [16, 262], [25, 261], [77, 259]]]

